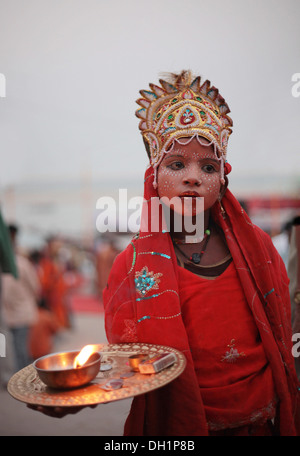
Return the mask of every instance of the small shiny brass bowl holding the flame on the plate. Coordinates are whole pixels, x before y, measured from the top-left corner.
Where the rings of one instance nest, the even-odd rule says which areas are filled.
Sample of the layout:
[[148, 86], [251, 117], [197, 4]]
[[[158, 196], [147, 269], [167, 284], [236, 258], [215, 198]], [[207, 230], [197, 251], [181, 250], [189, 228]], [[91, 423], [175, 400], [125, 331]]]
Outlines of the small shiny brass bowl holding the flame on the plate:
[[40, 379], [47, 386], [56, 389], [71, 389], [86, 385], [99, 372], [101, 355], [93, 353], [87, 362], [80, 367], [73, 363], [80, 351], [53, 353], [34, 361]]

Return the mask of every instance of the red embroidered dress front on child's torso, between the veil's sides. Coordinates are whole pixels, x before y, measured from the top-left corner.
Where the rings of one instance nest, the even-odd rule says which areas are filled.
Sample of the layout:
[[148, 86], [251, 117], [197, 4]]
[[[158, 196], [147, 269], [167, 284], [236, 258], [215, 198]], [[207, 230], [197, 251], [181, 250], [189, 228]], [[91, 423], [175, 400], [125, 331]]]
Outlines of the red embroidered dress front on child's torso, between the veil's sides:
[[272, 370], [234, 263], [214, 280], [181, 268], [179, 295], [209, 430], [274, 418]]

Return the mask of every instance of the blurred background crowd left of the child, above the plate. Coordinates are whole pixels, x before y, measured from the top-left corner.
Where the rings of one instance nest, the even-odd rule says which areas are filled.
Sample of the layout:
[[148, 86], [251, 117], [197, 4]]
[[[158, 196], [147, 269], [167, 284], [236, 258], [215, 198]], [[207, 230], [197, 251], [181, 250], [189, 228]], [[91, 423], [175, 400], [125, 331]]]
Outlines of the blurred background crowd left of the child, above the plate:
[[90, 250], [53, 236], [43, 248], [24, 251], [19, 231], [17, 225], [2, 224], [1, 264], [4, 245], [10, 257], [1, 274], [0, 333], [6, 341], [6, 356], [0, 358], [2, 386], [14, 372], [51, 353], [62, 331], [74, 329], [72, 313], [78, 301], [84, 311], [90, 297], [102, 311], [102, 290], [119, 253], [109, 236]]

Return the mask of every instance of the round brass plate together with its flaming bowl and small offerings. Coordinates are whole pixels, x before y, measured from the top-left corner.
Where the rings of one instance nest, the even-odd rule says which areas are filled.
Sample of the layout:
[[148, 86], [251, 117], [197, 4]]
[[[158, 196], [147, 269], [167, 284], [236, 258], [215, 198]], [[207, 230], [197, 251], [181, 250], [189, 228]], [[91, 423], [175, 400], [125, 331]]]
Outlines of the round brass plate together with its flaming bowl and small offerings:
[[[144, 375], [140, 370], [134, 371], [129, 362], [129, 359], [134, 358], [139, 361], [147, 358], [144, 359], [147, 362], [166, 353], [174, 353], [176, 361], [150, 375]], [[15, 399], [35, 406], [104, 404], [165, 386], [177, 378], [185, 366], [184, 354], [172, 347], [146, 343], [103, 343], [85, 346], [80, 352], [74, 350], [39, 358], [34, 364], [16, 372], [9, 380], [7, 389]], [[86, 369], [89, 370], [89, 377], [85, 375], [82, 378]]]

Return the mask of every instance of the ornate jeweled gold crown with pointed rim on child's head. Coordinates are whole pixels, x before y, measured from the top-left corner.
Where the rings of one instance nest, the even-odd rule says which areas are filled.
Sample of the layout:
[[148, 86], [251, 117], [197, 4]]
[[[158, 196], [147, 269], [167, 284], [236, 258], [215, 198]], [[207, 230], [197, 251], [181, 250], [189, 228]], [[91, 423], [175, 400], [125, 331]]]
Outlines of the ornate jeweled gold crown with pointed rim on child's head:
[[139, 129], [149, 145], [150, 163], [156, 168], [175, 139], [184, 136], [203, 136], [215, 144], [218, 158], [225, 161], [228, 137], [233, 123], [230, 112], [218, 89], [206, 80], [193, 79], [190, 71], [183, 71], [170, 83], [160, 79], [161, 87], [149, 84], [151, 91], [141, 90], [143, 98], [136, 116], [141, 119]]

